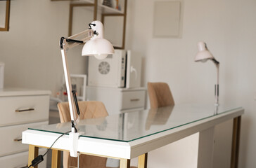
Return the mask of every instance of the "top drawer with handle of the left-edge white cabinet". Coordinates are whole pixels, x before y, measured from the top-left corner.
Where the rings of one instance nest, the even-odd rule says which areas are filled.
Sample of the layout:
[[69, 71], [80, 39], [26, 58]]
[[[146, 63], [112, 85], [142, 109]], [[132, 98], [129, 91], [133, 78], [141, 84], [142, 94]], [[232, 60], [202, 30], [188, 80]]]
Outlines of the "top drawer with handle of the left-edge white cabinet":
[[32, 123], [48, 120], [49, 96], [0, 97], [0, 126]]

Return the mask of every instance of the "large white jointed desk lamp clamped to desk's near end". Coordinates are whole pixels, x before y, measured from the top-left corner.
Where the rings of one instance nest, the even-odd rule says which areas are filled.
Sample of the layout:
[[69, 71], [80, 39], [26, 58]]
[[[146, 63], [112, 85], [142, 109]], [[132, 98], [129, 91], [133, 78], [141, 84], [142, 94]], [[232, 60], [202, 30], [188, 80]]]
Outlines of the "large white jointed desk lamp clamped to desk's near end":
[[[106, 39], [103, 38], [103, 24], [100, 21], [94, 21], [89, 24], [89, 29], [75, 34], [68, 38], [60, 38], [60, 50], [63, 59], [63, 69], [65, 76], [65, 83], [68, 92], [68, 104], [70, 107], [70, 117], [71, 117], [71, 132], [70, 140], [72, 146], [70, 147], [70, 155], [77, 157], [77, 140], [79, 133], [75, 125], [79, 122], [79, 108], [77, 104], [77, 99], [75, 97], [75, 92], [72, 91], [70, 73], [68, 70], [67, 62], [67, 51], [70, 48], [85, 43], [82, 49], [82, 56], [94, 56], [97, 59], [104, 59], [109, 54], [113, 54], [113, 45]], [[76, 107], [76, 109], [75, 109]]]

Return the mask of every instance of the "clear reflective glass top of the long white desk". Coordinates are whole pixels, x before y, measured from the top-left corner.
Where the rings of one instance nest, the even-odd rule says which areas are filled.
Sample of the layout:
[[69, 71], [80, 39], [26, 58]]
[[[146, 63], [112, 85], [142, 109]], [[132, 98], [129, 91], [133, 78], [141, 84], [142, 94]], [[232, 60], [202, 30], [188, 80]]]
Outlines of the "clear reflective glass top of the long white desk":
[[[242, 108], [220, 105], [215, 114], [213, 104], [180, 104], [159, 109], [120, 113], [105, 118], [80, 120], [77, 129], [79, 132], [84, 132], [80, 137], [129, 142], [236, 109]], [[71, 129], [70, 125], [70, 123], [41, 125], [30, 127], [29, 130], [63, 134]]]

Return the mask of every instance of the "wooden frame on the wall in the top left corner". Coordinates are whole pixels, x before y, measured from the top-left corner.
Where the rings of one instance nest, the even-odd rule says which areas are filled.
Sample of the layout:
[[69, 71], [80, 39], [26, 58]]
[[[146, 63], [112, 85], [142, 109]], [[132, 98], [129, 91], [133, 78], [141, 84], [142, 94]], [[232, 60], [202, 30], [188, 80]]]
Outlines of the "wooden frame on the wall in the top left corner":
[[0, 31], [9, 31], [10, 0], [0, 1]]

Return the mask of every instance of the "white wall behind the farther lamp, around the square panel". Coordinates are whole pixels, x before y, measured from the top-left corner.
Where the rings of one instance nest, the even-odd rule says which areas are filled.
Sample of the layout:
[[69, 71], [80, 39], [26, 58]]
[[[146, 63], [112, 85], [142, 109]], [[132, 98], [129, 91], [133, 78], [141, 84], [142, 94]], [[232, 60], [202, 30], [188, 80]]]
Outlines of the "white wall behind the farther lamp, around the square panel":
[[[171, 87], [176, 104], [214, 102], [216, 69], [212, 62], [193, 62], [198, 41], [220, 62], [220, 103], [243, 106], [240, 167], [255, 167], [256, 151], [256, 1], [253, 0], [183, 0], [181, 38], [153, 38], [153, 3], [158, 0], [129, 1], [127, 48], [142, 52], [143, 85], [148, 81], [165, 81]], [[226, 125], [225, 125], [226, 124]], [[221, 154], [230, 147], [223, 136], [231, 122], [217, 128]], [[224, 144], [227, 144], [225, 146]], [[220, 146], [224, 146], [221, 148]], [[172, 162], [170, 151], [169, 163]], [[150, 156], [150, 155], [149, 155]], [[218, 158], [215, 155], [215, 159]], [[220, 160], [220, 165], [229, 164]], [[155, 159], [155, 162], [158, 162]], [[218, 167], [218, 164], [215, 165]]]

